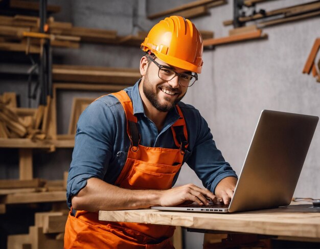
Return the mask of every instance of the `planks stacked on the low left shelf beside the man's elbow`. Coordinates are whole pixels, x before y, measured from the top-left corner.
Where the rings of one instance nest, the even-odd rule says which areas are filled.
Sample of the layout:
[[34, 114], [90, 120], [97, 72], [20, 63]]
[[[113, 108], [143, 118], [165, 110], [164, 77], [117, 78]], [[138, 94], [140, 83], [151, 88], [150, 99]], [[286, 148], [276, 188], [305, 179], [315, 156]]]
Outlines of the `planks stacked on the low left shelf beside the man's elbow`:
[[6, 206], [12, 204], [63, 202], [65, 206], [66, 179], [67, 172], [63, 180], [0, 180], [0, 213], [6, 213]]

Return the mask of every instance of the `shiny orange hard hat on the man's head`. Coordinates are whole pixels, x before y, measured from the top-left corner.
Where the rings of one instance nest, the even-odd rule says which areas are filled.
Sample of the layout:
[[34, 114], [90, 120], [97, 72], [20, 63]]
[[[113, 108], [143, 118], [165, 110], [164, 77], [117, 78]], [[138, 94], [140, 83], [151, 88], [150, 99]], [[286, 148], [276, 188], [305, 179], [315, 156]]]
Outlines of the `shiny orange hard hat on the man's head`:
[[141, 49], [150, 50], [169, 65], [201, 73], [202, 37], [194, 24], [184, 17], [170, 16], [159, 21], [141, 43]]

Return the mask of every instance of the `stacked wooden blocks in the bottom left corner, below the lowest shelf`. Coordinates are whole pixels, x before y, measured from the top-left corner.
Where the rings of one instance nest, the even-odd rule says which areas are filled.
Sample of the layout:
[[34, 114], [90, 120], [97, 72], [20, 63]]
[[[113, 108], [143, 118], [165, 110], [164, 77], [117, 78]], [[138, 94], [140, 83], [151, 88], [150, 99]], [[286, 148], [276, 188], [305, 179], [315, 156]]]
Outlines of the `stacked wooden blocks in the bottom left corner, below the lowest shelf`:
[[63, 248], [65, 212], [35, 213], [35, 222], [29, 234], [8, 236], [8, 248]]

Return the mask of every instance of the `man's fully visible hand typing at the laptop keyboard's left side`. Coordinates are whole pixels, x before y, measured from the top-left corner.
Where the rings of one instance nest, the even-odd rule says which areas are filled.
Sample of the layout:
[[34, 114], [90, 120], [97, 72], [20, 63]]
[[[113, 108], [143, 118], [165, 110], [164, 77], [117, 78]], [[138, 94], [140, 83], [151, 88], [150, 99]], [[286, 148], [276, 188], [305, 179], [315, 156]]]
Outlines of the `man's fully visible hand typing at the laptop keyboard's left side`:
[[159, 204], [163, 207], [176, 206], [185, 201], [194, 201], [199, 205], [208, 205], [209, 201], [207, 197], [213, 201], [216, 200], [216, 196], [208, 189], [200, 188], [194, 184], [162, 190], [160, 193]]

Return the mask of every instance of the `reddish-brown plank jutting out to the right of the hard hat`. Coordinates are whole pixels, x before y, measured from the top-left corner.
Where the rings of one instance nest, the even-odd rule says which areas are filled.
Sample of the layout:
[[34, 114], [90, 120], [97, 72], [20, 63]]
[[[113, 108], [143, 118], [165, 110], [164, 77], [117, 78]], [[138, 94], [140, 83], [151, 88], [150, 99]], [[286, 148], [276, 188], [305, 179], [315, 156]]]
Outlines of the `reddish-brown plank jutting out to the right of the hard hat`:
[[253, 32], [247, 32], [244, 34], [207, 39], [207, 40], [203, 40], [203, 47], [217, 46], [221, 44], [227, 44], [227, 43], [233, 43], [233, 42], [239, 42], [239, 41], [245, 41], [245, 40], [251, 40], [251, 39], [259, 39], [259, 38], [262, 38], [262, 39], [267, 38], [267, 35], [266, 34], [262, 35], [262, 30], [257, 30]]

